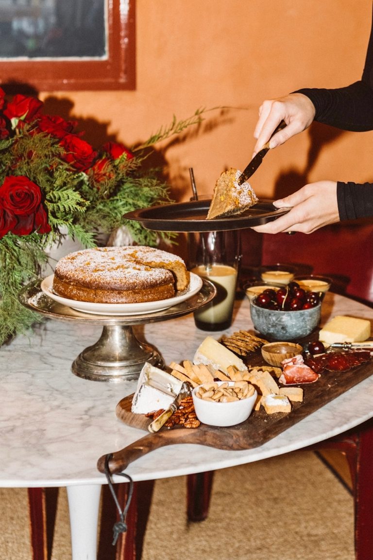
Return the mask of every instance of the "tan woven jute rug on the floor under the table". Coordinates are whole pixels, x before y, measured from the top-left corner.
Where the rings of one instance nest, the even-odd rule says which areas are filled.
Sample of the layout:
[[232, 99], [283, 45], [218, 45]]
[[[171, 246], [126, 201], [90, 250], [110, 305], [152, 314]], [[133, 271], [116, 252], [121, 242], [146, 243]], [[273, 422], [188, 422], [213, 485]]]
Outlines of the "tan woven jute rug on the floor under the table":
[[[28, 522], [26, 489], [0, 489], [0, 560], [31, 560]], [[186, 519], [186, 478], [158, 480], [142, 560], [160, 558], [354, 560], [352, 497], [308, 451], [216, 472], [200, 523]], [[51, 560], [70, 559], [61, 489]]]

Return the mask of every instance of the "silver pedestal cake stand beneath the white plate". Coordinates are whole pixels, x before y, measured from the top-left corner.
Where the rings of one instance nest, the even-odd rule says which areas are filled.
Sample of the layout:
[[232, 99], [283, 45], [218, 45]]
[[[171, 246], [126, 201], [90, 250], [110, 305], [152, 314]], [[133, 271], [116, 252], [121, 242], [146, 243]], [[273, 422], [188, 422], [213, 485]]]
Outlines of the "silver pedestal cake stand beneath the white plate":
[[216, 293], [214, 285], [204, 279], [198, 293], [162, 311], [141, 315], [93, 315], [52, 300], [41, 290], [40, 284], [41, 279], [23, 288], [19, 295], [21, 304], [50, 319], [102, 325], [100, 339], [75, 358], [72, 371], [83, 379], [110, 382], [137, 379], [145, 362], [157, 367], [164, 366], [157, 349], [135, 337], [134, 325], [156, 323], [190, 314], [211, 301]]

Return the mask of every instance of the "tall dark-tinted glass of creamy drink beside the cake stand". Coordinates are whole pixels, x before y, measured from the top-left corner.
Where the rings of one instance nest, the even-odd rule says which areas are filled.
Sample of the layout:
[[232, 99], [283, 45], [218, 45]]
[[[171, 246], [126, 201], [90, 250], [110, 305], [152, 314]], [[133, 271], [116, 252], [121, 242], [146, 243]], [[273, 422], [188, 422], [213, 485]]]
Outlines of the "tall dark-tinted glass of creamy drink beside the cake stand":
[[224, 330], [232, 323], [241, 260], [239, 231], [206, 231], [188, 234], [191, 272], [214, 284], [213, 301], [194, 312], [197, 328]]

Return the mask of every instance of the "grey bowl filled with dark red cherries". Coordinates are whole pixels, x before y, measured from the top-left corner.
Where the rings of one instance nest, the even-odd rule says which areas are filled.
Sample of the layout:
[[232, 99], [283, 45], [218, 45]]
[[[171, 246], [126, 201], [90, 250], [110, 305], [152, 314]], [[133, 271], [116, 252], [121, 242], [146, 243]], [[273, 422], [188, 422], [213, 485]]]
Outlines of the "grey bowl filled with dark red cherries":
[[250, 301], [254, 329], [268, 340], [299, 340], [318, 326], [321, 316], [319, 293], [308, 292], [297, 282], [268, 288]]

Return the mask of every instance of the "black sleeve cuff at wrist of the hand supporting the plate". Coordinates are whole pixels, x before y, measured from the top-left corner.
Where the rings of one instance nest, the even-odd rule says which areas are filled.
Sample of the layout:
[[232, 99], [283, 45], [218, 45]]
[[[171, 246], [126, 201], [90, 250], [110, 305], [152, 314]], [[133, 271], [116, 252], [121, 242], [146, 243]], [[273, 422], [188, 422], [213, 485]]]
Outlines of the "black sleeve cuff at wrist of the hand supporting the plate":
[[356, 220], [373, 216], [373, 184], [337, 183], [339, 219]]

